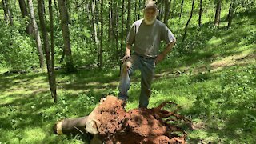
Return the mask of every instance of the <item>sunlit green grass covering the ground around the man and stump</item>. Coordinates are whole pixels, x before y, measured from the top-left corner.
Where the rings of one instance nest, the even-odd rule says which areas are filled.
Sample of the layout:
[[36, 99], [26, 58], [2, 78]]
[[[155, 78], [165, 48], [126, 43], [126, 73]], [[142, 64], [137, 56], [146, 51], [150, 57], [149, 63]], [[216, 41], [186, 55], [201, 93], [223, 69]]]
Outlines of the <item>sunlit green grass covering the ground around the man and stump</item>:
[[[256, 142], [255, 23], [238, 18], [230, 30], [207, 23], [193, 27], [185, 53], [178, 55], [177, 45], [157, 66], [149, 107], [164, 101], [183, 106], [181, 114], [197, 127], [186, 130], [189, 143]], [[88, 115], [100, 98], [118, 94], [118, 68], [58, 71], [57, 104], [50, 97], [45, 71], [10, 75], [3, 74], [6, 69], [0, 71], [0, 143], [88, 142], [79, 135], [56, 136], [51, 126], [62, 118]], [[132, 79], [126, 110], [138, 106], [139, 78], [135, 74]]]

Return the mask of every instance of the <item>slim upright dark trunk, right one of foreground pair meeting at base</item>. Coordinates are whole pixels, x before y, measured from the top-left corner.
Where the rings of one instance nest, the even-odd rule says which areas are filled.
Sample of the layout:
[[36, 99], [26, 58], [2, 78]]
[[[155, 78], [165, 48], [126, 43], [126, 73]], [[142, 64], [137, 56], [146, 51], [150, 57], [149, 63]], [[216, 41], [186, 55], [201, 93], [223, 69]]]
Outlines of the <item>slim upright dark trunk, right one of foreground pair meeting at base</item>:
[[53, 17], [53, 9], [52, 2], [49, 0], [49, 14], [50, 14], [50, 59], [51, 59], [51, 94], [54, 97], [54, 102], [57, 102], [57, 91], [56, 91], [56, 77], [54, 71], [54, 17]]

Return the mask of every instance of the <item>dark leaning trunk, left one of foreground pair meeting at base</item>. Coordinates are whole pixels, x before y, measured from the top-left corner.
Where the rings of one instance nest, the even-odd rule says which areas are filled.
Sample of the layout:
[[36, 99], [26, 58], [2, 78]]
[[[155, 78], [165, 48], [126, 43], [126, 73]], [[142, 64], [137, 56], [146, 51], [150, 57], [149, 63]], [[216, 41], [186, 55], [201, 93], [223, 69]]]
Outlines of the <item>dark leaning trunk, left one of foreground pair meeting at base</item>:
[[[32, 0], [29, 0], [32, 2]], [[48, 81], [50, 85], [50, 92], [52, 98], [54, 98], [53, 95], [53, 82], [52, 82], [52, 69], [51, 69], [51, 62], [50, 62], [50, 48], [49, 48], [49, 42], [48, 42], [48, 36], [46, 32], [46, 25], [45, 25], [45, 14], [44, 14], [44, 3], [43, 0], [38, 0], [38, 15], [39, 15], [39, 22], [42, 29], [42, 39], [44, 43], [44, 50], [46, 54], [46, 65], [47, 65], [47, 74], [48, 74]], [[54, 98], [54, 102], [57, 102]]]

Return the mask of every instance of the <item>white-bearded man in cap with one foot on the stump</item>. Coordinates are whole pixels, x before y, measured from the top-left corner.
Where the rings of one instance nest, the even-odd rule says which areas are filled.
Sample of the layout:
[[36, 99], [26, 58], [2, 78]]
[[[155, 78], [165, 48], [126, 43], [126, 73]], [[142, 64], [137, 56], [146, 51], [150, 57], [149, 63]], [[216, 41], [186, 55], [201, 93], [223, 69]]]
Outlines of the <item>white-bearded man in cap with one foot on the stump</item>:
[[[149, 104], [155, 65], [166, 57], [176, 39], [168, 27], [156, 19], [159, 11], [154, 1], [148, 0], [143, 12], [144, 18], [134, 22], [126, 38], [126, 54], [122, 58], [118, 99], [126, 106], [130, 76], [134, 70], [138, 69], [141, 71], [139, 107], [146, 108]], [[166, 42], [166, 49], [158, 54], [161, 41]], [[130, 55], [133, 44], [134, 53]]]

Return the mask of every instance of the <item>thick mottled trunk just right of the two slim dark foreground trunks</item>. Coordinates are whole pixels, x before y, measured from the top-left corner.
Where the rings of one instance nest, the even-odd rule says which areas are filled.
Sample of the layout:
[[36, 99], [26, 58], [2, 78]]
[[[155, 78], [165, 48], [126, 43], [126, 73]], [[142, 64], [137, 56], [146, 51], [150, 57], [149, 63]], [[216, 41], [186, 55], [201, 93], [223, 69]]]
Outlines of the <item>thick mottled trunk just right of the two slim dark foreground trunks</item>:
[[62, 37], [64, 41], [64, 51], [66, 59], [66, 70], [68, 72], [76, 71], [74, 68], [74, 63], [71, 54], [70, 46], [70, 30], [69, 30], [69, 17], [66, 9], [65, 0], [58, 0], [58, 9], [60, 13], [61, 23], [62, 23]]

